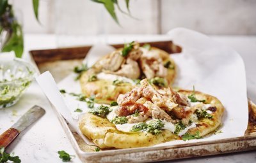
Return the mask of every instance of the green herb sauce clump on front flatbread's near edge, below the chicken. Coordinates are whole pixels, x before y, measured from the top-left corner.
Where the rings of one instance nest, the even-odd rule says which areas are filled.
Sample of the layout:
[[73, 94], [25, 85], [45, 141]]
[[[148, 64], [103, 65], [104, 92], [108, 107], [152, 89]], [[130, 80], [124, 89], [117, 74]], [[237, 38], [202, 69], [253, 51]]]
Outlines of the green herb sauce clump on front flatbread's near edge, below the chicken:
[[132, 126], [131, 131], [147, 131], [151, 134], [157, 135], [162, 132], [162, 128], [164, 127], [164, 124], [161, 120], [152, 120], [148, 124], [142, 122], [140, 124]]

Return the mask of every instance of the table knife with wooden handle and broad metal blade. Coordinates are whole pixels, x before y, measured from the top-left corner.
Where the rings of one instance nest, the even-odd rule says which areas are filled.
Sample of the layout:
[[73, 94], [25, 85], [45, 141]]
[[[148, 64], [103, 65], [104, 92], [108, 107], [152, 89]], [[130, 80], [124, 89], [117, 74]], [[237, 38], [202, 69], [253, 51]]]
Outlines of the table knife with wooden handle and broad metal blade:
[[45, 110], [40, 106], [35, 105], [29, 109], [10, 129], [0, 135], [0, 148], [10, 145], [20, 132], [24, 131], [24, 129], [36, 122], [44, 114]]

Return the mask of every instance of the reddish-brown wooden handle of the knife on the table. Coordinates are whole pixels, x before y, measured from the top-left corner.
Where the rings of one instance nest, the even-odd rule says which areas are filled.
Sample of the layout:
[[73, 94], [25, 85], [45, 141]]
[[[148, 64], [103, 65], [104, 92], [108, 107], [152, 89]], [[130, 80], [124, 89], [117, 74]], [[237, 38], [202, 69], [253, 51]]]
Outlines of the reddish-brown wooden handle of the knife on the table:
[[6, 130], [3, 134], [0, 135], [0, 148], [6, 147], [12, 143], [12, 141], [19, 135], [19, 131], [14, 128]]

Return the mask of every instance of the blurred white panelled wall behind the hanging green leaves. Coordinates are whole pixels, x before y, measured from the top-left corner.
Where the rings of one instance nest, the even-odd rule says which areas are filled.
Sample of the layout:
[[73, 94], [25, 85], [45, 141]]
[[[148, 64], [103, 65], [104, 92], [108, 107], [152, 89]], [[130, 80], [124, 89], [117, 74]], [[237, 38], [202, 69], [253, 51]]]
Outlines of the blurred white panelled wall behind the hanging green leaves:
[[[124, 0], [119, 0], [124, 10]], [[32, 0], [12, 0], [24, 32], [56, 34], [161, 34], [186, 27], [205, 34], [256, 34], [255, 0], [131, 0], [135, 20], [117, 12], [120, 24], [102, 4], [90, 0], [40, 0], [39, 25]]]

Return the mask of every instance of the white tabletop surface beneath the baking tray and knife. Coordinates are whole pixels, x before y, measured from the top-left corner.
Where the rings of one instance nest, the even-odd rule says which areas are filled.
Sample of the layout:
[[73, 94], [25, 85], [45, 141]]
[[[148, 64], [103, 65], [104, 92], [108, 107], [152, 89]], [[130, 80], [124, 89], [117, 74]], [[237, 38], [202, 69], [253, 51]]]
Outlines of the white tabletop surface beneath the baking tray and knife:
[[[244, 60], [246, 67], [246, 80], [248, 88], [248, 97], [256, 102], [256, 36], [211, 36], [213, 39], [232, 46]], [[125, 38], [125, 39], [124, 39]], [[28, 51], [42, 48], [56, 48], [58, 45], [74, 45], [77, 40], [80, 44], [92, 44], [97, 41], [107, 42], [123, 42], [130, 40], [150, 40], [161, 39], [164, 36], [88, 36], [86, 38], [26, 34], [25, 35], [25, 54], [24, 58], [28, 58]], [[0, 55], [1, 59], [1, 55]], [[26, 129], [6, 150], [7, 152], [15, 152], [19, 155], [22, 162], [62, 162], [58, 158], [58, 150], [65, 150], [70, 155], [76, 155], [74, 149], [70, 145], [65, 133], [58, 121], [57, 116], [47, 101], [46, 97], [33, 82], [31, 87], [26, 91], [19, 103], [10, 108], [0, 110], [0, 133], [8, 129], [12, 124], [31, 106], [42, 106], [46, 110], [46, 114], [34, 125]], [[81, 162], [79, 158], [72, 159], [72, 162]], [[216, 155], [211, 157], [202, 157], [195, 159], [183, 159], [166, 162], [256, 162], [256, 152], [231, 153], [226, 155]]]

